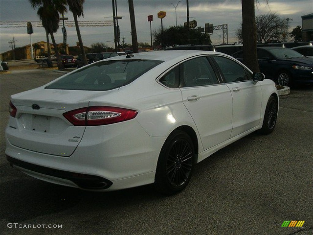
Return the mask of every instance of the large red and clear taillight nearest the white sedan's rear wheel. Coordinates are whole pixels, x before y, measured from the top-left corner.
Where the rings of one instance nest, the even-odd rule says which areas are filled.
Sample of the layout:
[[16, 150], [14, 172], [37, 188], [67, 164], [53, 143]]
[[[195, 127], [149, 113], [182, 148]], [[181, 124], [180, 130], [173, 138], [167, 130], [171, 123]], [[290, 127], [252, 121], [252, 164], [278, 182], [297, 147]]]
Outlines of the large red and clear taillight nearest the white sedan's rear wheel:
[[107, 106], [92, 106], [63, 113], [74, 126], [100, 126], [120, 123], [136, 117], [138, 111]]

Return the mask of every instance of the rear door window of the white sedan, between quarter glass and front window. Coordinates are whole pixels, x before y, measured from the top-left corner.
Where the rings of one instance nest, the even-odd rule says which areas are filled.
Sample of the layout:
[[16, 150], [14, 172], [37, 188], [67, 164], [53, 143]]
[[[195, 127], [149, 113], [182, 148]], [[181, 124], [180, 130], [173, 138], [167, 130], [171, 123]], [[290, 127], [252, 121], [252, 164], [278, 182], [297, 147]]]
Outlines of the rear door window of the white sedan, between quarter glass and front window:
[[207, 57], [182, 63], [182, 82], [186, 87], [218, 84], [218, 79]]

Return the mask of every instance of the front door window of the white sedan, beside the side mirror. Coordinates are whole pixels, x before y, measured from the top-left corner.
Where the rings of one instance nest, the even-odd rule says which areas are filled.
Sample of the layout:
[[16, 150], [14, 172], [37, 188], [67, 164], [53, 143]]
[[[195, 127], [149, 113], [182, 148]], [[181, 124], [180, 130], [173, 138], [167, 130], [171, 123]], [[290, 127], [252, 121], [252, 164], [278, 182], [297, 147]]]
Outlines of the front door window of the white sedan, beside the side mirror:
[[246, 81], [252, 79], [252, 74], [246, 70], [242, 65], [223, 56], [212, 56], [218, 64], [224, 80], [228, 82]]

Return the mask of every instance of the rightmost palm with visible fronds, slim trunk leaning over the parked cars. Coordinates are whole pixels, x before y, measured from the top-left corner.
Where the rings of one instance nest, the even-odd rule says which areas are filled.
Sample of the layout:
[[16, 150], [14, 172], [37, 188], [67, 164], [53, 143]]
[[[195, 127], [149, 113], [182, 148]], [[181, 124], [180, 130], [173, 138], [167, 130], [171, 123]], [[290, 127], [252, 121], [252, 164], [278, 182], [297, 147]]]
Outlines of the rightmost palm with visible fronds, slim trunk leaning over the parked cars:
[[69, 11], [73, 13], [75, 28], [77, 32], [77, 38], [78, 38], [78, 42], [80, 46], [80, 52], [83, 55], [84, 65], [87, 65], [88, 61], [86, 58], [83, 40], [81, 39], [80, 29], [79, 29], [78, 20], [77, 20], [77, 17], [80, 17], [80, 16], [84, 17], [83, 4], [85, 0], [66, 0], [66, 2], [69, 5]]

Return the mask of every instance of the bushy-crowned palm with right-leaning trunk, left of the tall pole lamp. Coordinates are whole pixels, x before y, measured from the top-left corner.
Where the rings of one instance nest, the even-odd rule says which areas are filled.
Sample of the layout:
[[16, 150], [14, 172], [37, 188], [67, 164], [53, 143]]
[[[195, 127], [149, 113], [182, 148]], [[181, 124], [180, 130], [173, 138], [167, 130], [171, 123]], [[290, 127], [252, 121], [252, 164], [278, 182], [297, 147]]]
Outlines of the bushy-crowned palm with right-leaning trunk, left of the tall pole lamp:
[[39, 16], [42, 26], [46, 33], [50, 34], [54, 46], [55, 56], [57, 57], [58, 68], [63, 69], [61, 63], [58, 46], [55, 42], [53, 33], [59, 29], [59, 13], [66, 12], [66, 0], [28, 0], [34, 9], [38, 8], [37, 15]]

